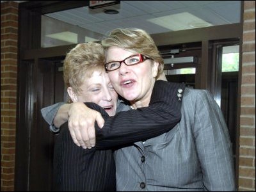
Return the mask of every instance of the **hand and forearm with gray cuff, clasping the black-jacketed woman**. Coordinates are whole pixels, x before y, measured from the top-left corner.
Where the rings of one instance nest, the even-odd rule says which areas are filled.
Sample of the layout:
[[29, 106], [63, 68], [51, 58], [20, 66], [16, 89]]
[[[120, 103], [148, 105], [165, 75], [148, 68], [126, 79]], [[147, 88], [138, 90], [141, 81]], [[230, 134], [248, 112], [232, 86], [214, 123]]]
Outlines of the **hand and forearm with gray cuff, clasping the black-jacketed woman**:
[[[99, 127], [103, 127], [104, 119], [97, 111], [88, 108], [86, 108], [87, 110], [83, 110], [84, 107], [83, 102], [72, 102], [71, 104], [58, 102], [52, 106], [42, 108], [41, 113], [44, 120], [50, 125], [52, 132], [59, 132], [61, 125], [70, 118], [68, 127], [74, 128], [69, 129], [74, 143], [76, 143], [77, 146], [91, 146], [95, 145], [94, 122], [97, 121]], [[75, 112], [73, 112], [73, 110], [75, 110]], [[84, 121], [84, 118], [87, 116], [92, 116], [93, 122]], [[86, 131], [86, 134], [84, 134], [84, 140], [81, 139], [81, 132], [83, 133], [83, 131], [78, 129], [83, 128], [83, 126], [92, 127], [90, 129], [88, 128], [88, 132]]]

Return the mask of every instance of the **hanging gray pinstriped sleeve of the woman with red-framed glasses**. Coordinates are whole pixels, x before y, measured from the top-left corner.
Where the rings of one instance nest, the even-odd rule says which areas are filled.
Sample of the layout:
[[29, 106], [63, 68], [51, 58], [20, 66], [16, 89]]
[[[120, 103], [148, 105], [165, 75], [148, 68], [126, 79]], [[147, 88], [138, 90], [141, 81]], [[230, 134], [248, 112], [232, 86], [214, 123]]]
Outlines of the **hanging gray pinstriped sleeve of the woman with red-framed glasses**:
[[204, 186], [208, 191], [234, 191], [232, 143], [221, 109], [209, 92], [196, 94], [194, 137]]

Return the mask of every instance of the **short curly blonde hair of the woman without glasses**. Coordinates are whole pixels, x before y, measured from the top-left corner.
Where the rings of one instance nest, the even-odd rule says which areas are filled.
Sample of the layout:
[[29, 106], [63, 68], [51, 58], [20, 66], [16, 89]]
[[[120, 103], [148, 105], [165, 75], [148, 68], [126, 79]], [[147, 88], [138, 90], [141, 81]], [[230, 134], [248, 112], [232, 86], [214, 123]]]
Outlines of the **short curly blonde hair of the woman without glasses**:
[[[65, 85], [75, 93], [81, 93], [81, 85], [86, 78], [92, 77], [95, 70], [104, 72], [104, 49], [102, 45], [89, 42], [77, 44], [68, 52], [63, 65]], [[70, 100], [69, 100], [70, 102]]]

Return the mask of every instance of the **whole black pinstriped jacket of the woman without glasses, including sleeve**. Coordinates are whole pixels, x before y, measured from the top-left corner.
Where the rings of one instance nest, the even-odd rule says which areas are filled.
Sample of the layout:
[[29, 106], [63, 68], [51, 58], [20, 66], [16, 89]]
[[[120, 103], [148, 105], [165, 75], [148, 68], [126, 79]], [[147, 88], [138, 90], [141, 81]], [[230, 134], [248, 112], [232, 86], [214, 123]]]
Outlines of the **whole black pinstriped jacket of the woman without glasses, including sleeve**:
[[95, 124], [96, 145], [83, 149], [74, 144], [68, 123], [61, 125], [54, 146], [54, 186], [57, 191], [115, 191], [113, 150], [170, 131], [181, 118], [178, 90], [184, 84], [156, 81], [147, 108], [122, 111], [108, 116], [94, 103], [86, 106], [99, 111], [105, 120]]

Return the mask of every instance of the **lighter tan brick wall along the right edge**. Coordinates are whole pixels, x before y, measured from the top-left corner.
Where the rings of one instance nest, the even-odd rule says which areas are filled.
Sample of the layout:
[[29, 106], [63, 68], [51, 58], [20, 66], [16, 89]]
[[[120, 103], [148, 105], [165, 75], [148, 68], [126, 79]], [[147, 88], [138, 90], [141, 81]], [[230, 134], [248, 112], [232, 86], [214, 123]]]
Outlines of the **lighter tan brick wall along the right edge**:
[[255, 1], [244, 1], [239, 191], [255, 191]]

